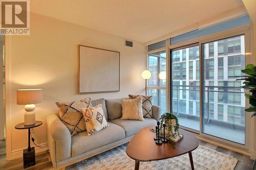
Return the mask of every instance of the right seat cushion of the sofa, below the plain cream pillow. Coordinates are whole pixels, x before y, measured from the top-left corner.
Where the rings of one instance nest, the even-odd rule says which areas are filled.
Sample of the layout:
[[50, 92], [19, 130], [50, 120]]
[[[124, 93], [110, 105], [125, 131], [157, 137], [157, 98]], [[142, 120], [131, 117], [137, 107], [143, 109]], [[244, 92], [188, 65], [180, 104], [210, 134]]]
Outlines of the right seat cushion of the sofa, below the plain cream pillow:
[[154, 118], [144, 118], [144, 121], [140, 120], [122, 120], [121, 118], [111, 120], [111, 123], [122, 127], [125, 130], [125, 137], [135, 135], [139, 130], [148, 127], [156, 126], [157, 120]]

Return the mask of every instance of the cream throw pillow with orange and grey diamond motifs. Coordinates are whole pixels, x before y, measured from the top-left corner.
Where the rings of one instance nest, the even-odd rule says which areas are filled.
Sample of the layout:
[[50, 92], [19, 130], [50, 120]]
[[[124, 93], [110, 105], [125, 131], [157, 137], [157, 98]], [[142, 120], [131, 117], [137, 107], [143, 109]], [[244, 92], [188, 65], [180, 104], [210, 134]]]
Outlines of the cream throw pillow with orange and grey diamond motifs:
[[88, 135], [93, 135], [109, 126], [109, 124], [106, 122], [101, 104], [95, 107], [83, 108], [82, 113], [84, 120], [86, 121]]

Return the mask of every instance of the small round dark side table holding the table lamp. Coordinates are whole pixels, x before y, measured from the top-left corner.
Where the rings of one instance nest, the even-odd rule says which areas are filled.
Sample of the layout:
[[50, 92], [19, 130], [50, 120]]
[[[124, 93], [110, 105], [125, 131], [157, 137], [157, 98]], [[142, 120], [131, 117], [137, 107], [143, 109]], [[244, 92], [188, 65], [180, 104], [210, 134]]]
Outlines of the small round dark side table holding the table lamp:
[[15, 129], [28, 129], [28, 149], [23, 150], [23, 167], [35, 165], [35, 147], [30, 147], [30, 128], [35, 128], [42, 125], [41, 121], [36, 121], [33, 125], [24, 125], [20, 123], [15, 125]]

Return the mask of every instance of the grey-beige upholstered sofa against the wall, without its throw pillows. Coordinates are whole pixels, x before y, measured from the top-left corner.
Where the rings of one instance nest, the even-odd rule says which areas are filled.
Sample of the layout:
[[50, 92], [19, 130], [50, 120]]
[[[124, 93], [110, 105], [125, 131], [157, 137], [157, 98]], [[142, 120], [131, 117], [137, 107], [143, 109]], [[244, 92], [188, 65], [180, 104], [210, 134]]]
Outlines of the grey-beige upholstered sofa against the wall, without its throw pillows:
[[98, 104], [102, 104], [109, 126], [92, 136], [88, 136], [87, 131], [84, 131], [71, 137], [68, 128], [57, 114], [46, 117], [48, 145], [55, 169], [65, 169], [70, 164], [129, 142], [142, 128], [155, 126], [161, 115], [160, 107], [153, 106], [154, 118], [144, 118], [143, 122], [122, 120], [121, 99], [92, 101], [93, 106]]

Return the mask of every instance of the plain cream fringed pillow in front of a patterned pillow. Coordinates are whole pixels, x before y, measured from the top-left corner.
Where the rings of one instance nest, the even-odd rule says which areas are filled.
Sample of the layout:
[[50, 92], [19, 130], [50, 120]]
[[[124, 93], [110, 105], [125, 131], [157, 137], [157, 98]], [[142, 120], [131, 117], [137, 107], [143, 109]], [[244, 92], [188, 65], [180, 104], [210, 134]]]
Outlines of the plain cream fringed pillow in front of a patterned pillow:
[[142, 114], [142, 98], [137, 99], [121, 99], [122, 117], [121, 119], [134, 119], [143, 121]]

